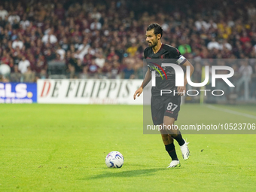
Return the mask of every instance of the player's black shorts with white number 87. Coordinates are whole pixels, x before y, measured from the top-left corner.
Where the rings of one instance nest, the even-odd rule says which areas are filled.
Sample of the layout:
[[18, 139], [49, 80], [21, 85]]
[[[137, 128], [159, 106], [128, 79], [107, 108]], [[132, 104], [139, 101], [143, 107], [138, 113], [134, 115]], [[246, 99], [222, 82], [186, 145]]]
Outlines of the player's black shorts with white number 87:
[[163, 117], [178, 118], [178, 111], [181, 106], [181, 96], [152, 96], [151, 115], [154, 125], [163, 123]]

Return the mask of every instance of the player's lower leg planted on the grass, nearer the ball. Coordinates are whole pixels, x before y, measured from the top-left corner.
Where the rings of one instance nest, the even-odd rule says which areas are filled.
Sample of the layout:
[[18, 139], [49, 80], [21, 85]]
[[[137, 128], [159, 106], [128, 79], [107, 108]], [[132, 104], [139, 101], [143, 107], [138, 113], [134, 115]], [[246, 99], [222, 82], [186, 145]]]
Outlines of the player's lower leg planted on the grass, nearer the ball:
[[[160, 132], [162, 133], [162, 131], [160, 131]], [[162, 136], [163, 144], [165, 145], [166, 151], [169, 154], [169, 156], [172, 158], [172, 162], [170, 163], [168, 168], [181, 166], [181, 163], [179, 162], [177, 154], [176, 154], [176, 150], [175, 150], [175, 146], [173, 144], [172, 137], [169, 136], [168, 134], [164, 134], [164, 133], [161, 134], [161, 136]]]

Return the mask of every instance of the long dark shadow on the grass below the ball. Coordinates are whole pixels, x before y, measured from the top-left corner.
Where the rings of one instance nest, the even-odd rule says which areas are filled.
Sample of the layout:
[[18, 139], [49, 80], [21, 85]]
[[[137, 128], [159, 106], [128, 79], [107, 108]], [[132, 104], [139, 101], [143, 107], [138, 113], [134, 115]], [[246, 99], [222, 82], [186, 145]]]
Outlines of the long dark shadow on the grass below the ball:
[[[143, 175], [153, 175], [154, 172], [169, 170], [169, 169], [138, 169], [138, 170], [130, 170], [130, 171], [123, 171], [123, 172], [105, 172], [100, 175], [94, 175], [89, 177], [90, 179], [97, 179], [97, 178], [110, 178], [110, 177], [137, 177]], [[87, 178], [88, 179], [88, 178]]]

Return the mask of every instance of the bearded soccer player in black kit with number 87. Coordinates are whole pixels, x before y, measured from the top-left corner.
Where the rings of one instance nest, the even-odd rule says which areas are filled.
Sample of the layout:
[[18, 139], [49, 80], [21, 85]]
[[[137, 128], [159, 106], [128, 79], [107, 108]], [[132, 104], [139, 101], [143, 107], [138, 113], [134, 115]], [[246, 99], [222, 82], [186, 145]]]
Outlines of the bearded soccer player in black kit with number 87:
[[[190, 76], [194, 72], [194, 67], [190, 64], [184, 56], [175, 48], [168, 44], [162, 44], [161, 38], [163, 36], [163, 29], [157, 23], [152, 23], [148, 26], [146, 31], [146, 41], [148, 42], [148, 47], [144, 50], [145, 59], [147, 59], [148, 72], [145, 75], [145, 79], [142, 82], [142, 86], [134, 93], [133, 99], [136, 96], [142, 94], [143, 88], [151, 81], [151, 71], [156, 69], [156, 66], [151, 66], [150, 59], [173, 59], [175, 64], [180, 66], [190, 66]], [[160, 63], [159, 63], [160, 65]], [[156, 86], [151, 89], [151, 115], [154, 125], [163, 124], [172, 127], [169, 132], [164, 132], [160, 130], [163, 139], [163, 144], [165, 145], [166, 151], [172, 158], [172, 161], [168, 168], [179, 167], [181, 163], [178, 160], [175, 145], [173, 144], [173, 139], [180, 145], [182, 157], [187, 160], [190, 156], [190, 151], [187, 148], [188, 143], [182, 138], [181, 133], [174, 126], [175, 120], [178, 117], [178, 111], [181, 105], [181, 95], [186, 91], [187, 78], [184, 77], [184, 86], [175, 87], [175, 71], [172, 67], [166, 67], [165, 70], [167, 79], [156, 78]], [[172, 90], [178, 94], [164, 94], [160, 96], [160, 90]]]

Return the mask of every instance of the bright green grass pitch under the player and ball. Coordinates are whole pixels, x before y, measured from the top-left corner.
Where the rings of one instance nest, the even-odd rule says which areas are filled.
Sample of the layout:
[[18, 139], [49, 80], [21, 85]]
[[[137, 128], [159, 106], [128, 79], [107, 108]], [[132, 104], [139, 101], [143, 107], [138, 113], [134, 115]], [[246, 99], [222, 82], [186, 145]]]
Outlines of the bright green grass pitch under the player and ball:
[[[216, 105], [215, 105], [216, 106]], [[182, 105], [177, 124], [256, 123], [255, 106]], [[166, 169], [142, 106], [0, 105], [0, 191], [255, 191], [256, 135], [184, 135], [190, 159]], [[105, 156], [120, 151], [121, 169]]]

